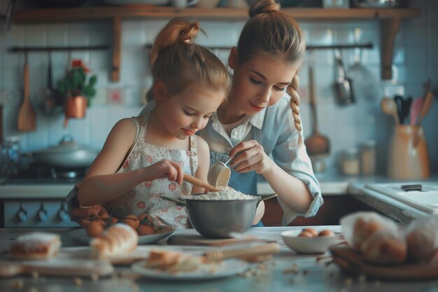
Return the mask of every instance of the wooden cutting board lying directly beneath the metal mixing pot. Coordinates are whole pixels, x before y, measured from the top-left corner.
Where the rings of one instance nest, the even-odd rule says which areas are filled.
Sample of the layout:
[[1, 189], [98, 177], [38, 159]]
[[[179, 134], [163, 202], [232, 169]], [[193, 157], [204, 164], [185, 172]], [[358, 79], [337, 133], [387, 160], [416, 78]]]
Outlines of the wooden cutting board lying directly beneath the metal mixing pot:
[[263, 241], [254, 235], [244, 235], [242, 239], [237, 238], [206, 238], [200, 235], [196, 230], [185, 230], [169, 236], [167, 244], [172, 245], [204, 245], [204, 246], [225, 246], [228, 244], [239, 244], [243, 242]]

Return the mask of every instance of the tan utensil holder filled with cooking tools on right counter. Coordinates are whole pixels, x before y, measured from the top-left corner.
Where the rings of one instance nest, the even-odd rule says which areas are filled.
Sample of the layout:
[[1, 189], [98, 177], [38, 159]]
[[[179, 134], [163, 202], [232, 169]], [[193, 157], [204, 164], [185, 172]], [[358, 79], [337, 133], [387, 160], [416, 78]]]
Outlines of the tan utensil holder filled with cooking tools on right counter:
[[390, 141], [388, 176], [391, 179], [427, 179], [429, 175], [428, 144], [423, 127], [397, 125]]

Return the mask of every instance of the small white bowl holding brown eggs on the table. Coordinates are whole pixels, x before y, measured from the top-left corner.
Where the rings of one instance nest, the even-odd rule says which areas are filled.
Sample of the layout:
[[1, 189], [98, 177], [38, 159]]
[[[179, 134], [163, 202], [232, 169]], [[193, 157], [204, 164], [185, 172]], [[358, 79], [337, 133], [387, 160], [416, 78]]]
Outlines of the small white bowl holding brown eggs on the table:
[[299, 237], [301, 232], [301, 229], [281, 232], [283, 242], [297, 253], [325, 253], [329, 246], [344, 242], [344, 237], [339, 232], [328, 236]]

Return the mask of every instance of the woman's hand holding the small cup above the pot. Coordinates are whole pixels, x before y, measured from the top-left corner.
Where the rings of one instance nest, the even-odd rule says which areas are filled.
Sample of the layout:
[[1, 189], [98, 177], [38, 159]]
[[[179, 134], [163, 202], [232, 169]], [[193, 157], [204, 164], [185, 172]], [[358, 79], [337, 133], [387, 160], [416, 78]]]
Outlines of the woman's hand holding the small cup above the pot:
[[[243, 151], [239, 153], [240, 151]], [[236, 153], [239, 153], [236, 155]], [[272, 168], [272, 160], [264, 153], [263, 146], [255, 140], [242, 141], [231, 151], [229, 156], [236, 155], [230, 162], [229, 166], [233, 167], [236, 172], [255, 171], [257, 174], [263, 174]]]

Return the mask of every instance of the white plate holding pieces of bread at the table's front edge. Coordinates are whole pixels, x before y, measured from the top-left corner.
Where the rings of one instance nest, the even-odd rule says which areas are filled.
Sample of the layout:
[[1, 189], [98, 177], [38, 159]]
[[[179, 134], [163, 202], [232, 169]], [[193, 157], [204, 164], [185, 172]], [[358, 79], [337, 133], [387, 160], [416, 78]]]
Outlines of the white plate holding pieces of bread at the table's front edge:
[[207, 280], [218, 279], [224, 277], [234, 276], [241, 272], [245, 272], [249, 267], [249, 264], [243, 260], [236, 258], [229, 258], [222, 262], [222, 265], [218, 267], [215, 272], [209, 272], [206, 270], [194, 271], [194, 272], [177, 272], [170, 273], [156, 269], [148, 269], [145, 267], [145, 262], [140, 261], [132, 265], [132, 270], [141, 274], [144, 277], [160, 280], [177, 280], [177, 281], [195, 281], [195, 280]]

